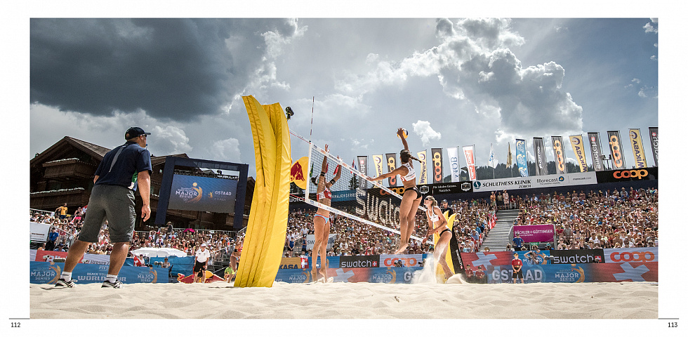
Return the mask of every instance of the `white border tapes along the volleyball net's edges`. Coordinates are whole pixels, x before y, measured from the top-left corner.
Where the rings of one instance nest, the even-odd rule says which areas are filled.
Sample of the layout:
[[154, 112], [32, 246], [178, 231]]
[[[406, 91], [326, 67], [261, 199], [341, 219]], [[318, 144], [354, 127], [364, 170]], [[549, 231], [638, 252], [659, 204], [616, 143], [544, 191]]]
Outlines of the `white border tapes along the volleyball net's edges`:
[[[354, 168], [353, 168], [352, 166], [350, 166], [349, 164], [346, 164], [342, 159], [339, 159], [339, 158], [333, 156], [333, 154], [330, 154], [329, 152], [326, 152], [322, 147], [319, 147], [319, 146], [313, 144], [310, 140], [305, 139], [303, 136], [300, 136], [298, 133], [296, 133], [296, 132], [294, 132], [294, 131], [292, 131], [292, 130], [290, 130], [289, 133], [291, 133], [291, 134], [292, 134], [293, 136], [295, 136], [296, 138], [299, 138], [300, 140], [303, 140], [304, 142], [308, 143], [308, 145], [309, 145], [309, 154], [308, 154], [308, 167], [309, 167], [309, 170], [310, 170], [310, 166], [312, 165], [311, 163], [313, 162], [313, 159], [312, 159], [313, 154], [319, 152], [319, 153], [322, 154], [323, 156], [327, 157], [328, 159], [330, 159], [330, 160], [332, 160], [332, 161], [335, 161], [336, 164], [340, 165], [340, 166], [341, 166], [340, 170], [342, 170], [343, 172], [344, 172], [344, 171], [350, 171], [353, 175], [357, 176], [358, 178], [364, 179], [364, 180], [366, 180], [366, 178], [368, 178], [366, 175], [364, 175], [363, 173], [359, 172], [357, 169], [354, 169]], [[321, 158], [322, 158], [322, 157], [321, 157]], [[387, 192], [388, 194], [390, 194], [390, 196], [396, 197], [397, 199], [399, 199], [399, 201], [402, 199], [402, 196], [399, 195], [397, 192], [394, 192], [394, 191], [390, 190], [390, 188], [383, 186], [380, 180], [378, 180], [378, 181], [366, 180], [366, 183], [370, 183], [370, 184], [372, 184], [373, 186], [380, 188], [381, 190], [383, 190], [383, 191]], [[309, 184], [309, 185], [310, 185], [310, 184]], [[371, 220], [367, 220], [367, 219], [361, 218], [361, 217], [359, 217], [359, 216], [357, 216], [357, 215], [355, 215], [355, 214], [347, 213], [347, 212], [342, 211], [342, 210], [340, 210], [340, 209], [336, 209], [336, 208], [334, 208], [334, 207], [332, 207], [332, 206], [326, 206], [326, 205], [324, 205], [324, 204], [319, 203], [318, 201], [315, 201], [315, 200], [310, 199], [310, 197], [309, 197], [309, 195], [310, 195], [310, 187], [307, 187], [307, 188], [305, 189], [304, 193], [305, 193], [305, 196], [304, 196], [303, 198], [298, 197], [298, 196], [296, 196], [296, 195], [292, 195], [292, 197], [298, 199], [299, 201], [303, 201], [303, 202], [305, 202], [306, 204], [309, 204], [309, 205], [311, 205], [311, 206], [315, 206], [315, 207], [318, 207], [318, 208], [320, 208], [320, 209], [324, 209], [324, 210], [326, 210], [326, 211], [330, 211], [331, 213], [335, 213], [335, 214], [337, 214], [338, 216], [344, 216], [345, 218], [350, 218], [350, 219], [353, 219], [353, 220], [357, 220], [357, 221], [359, 221], [359, 222], [361, 222], [361, 223], [365, 223], [366, 225], [371, 225], [371, 226], [373, 226], [373, 227], [377, 227], [377, 228], [380, 228], [380, 229], [382, 229], [382, 230], [387, 230], [387, 231], [393, 232], [393, 233], [395, 233], [395, 234], [399, 234], [399, 235], [401, 234], [401, 232], [399, 232], [399, 230], [397, 230], [397, 229], [395, 229], [395, 228], [387, 227], [387, 226], [385, 226], [385, 225], [381, 225], [380, 223], [374, 223], [374, 222], [371, 221]], [[425, 209], [425, 207], [423, 207], [423, 206], [419, 206], [418, 209], [421, 209], [421, 210], [423, 210], [423, 211], [427, 211], [427, 209]], [[421, 242], [422, 242], [424, 238], [422, 238], [422, 237], [416, 237], [416, 236], [414, 236], [414, 235], [411, 235], [411, 239], [414, 239], [414, 240], [416, 240], [416, 241], [421, 241]], [[434, 242], [432, 242], [432, 239], [428, 239], [428, 244], [433, 244], [433, 245], [434, 245]]]

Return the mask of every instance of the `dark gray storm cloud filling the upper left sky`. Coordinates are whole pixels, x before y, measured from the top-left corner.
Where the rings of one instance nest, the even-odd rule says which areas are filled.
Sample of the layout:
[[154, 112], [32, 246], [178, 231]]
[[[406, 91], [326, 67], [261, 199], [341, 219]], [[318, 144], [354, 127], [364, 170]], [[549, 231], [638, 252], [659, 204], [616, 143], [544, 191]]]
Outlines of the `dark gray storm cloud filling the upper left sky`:
[[265, 54], [261, 34], [289, 20], [33, 19], [31, 101], [110, 115], [189, 120], [241, 93]]

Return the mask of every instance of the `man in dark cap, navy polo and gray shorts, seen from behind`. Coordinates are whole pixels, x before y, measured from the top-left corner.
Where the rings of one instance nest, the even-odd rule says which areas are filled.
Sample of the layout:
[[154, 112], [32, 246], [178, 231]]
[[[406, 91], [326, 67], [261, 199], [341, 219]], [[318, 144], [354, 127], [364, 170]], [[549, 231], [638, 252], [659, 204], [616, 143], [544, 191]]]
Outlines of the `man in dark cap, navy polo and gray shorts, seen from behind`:
[[150, 217], [150, 152], [146, 149], [146, 133], [142, 128], [132, 127], [124, 133], [126, 143], [107, 152], [95, 170], [93, 190], [88, 199], [88, 213], [79, 238], [70, 247], [65, 261], [65, 271], [55, 286], [73, 287], [72, 270], [77, 266], [91, 242], [98, 242], [100, 227], [107, 220], [110, 242], [113, 243], [110, 253], [110, 267], [107, 270], [102, 288], [122, 287], [117, 274], [129, 251], [129, 242], [134, 230], [136, 211], [134, 209], [134, 191], [143, 199], [141, 217]]

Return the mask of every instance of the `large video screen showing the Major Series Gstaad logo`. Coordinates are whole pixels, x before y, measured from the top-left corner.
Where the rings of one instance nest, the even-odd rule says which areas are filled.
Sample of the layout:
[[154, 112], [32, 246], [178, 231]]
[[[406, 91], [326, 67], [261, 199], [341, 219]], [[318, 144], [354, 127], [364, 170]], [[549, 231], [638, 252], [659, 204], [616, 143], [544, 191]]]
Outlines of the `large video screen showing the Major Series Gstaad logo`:
[[169, 209], [234, 213], [239, 180], [175, 174]]

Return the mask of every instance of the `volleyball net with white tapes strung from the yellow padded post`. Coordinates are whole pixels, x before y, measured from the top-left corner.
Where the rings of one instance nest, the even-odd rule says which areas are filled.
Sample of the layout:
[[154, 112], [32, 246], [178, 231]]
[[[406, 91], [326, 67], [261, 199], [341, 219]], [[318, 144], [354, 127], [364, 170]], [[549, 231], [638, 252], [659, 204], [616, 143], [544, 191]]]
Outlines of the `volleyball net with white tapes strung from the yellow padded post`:
[[[323, 147], [306, 140], [294, 131], [289, 131], [292, 138], [292, 150], [307, 148], [307, 162], [305, 158], [298, 161], [304, 169], [307, 186], [303, 193], [291, 193], [294, 201], [330, 211], [337, 216], [343, 216], [360, 223], [387, 230], [395, 234], [399, 232], [399, 205], [402, 196], [382, 184], [383, 180], [369, 181], [367, 176], [352, 165], [345, 163], [336, 156], [336, 145], [331, 152], [326, 152]], [[296, 146], [295, 146], [296, 145]], [[322, 167], [323, 159], [327, 159], [326, 168]], [[331, 206], [326, 206], [317, 201], [317, 183], [320, 172], [324, 171], [325, 181], [329, 182], [340, 171], [340, 178], [330, 187], [332, 193]], [[397, 189], [398, 187], [395, 187]], [[293, 191], [292, 191], [293, 192]], [[418, 207], [425, 211], [423, 206]], [[418, 223], [416, 223], [416, 227]], [[422, 241], [423, 237], [411, 235], [411, 239]], [[432, 239], [428, 239], [433, 244]]]

